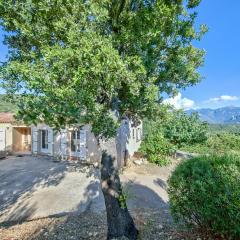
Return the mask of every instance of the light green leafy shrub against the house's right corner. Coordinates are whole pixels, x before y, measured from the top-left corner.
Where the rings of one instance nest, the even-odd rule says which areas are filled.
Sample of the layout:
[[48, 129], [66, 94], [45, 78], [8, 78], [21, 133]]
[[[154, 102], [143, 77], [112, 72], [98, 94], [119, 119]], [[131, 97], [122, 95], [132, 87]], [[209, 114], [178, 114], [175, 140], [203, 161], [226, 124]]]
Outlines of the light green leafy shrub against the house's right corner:
[[165, 166], [169, 163], [169, 155], [173, 154], [174, 148], [163, 136], [160, 130], [149, 132], [145, 136], [140, 152], [143, 153], [149, 162]]

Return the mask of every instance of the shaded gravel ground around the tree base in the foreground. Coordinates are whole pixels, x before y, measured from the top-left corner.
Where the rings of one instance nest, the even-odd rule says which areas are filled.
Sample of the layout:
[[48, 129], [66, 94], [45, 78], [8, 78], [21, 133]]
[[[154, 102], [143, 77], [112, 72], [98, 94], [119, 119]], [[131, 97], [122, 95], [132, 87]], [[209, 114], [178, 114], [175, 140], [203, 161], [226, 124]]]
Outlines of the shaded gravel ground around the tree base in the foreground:
[[[132, 215], [139, 229], [139, 240], [201, 240], [164, 223], [156, 211], [138, 209]], [[0, 225], [1, 240], [101, 240], [106, 239], [106, 235], [104, 212], [38, 219], [13, 226]]]

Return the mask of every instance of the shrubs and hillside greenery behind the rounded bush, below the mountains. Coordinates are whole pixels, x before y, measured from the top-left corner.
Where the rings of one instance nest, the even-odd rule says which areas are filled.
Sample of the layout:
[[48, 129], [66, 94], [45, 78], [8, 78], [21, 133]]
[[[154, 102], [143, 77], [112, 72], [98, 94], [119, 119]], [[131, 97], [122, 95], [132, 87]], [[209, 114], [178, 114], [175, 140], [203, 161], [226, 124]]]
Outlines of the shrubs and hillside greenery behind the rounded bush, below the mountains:
[[160, 106], [154, 121], [144, 121], [140, 151], [150, 162], [166, 165], [175, 150], [240, 154], [240, 125], [207, 124], [196, 113]]

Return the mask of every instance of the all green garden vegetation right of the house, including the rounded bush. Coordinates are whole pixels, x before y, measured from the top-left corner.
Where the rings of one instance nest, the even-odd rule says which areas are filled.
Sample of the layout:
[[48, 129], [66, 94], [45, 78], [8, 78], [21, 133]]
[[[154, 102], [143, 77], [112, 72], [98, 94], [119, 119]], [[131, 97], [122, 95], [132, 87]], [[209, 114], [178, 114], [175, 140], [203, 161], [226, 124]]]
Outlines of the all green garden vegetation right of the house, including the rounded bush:
[[239, 126], [209, 125], [197, 114], [165, 108], [144, 127], [141, 152], [148, 161], [168, 165], [177, 150], [197, 155], [180, 161], [168, 180], [177, 225], [203, 239], [239, 239]]

